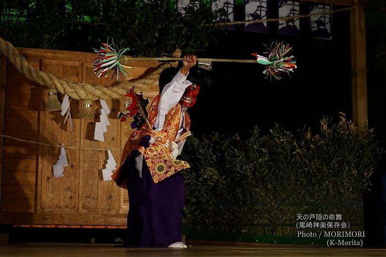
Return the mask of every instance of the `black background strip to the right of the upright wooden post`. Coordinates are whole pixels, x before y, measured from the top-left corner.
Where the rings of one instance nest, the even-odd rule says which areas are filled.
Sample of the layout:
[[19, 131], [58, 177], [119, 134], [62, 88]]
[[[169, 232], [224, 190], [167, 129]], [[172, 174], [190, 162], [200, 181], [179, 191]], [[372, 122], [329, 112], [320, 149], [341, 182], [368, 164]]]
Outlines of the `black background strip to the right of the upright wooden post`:
[[[386, 19], [385, 0], [366, 4], [366, 59], [369, 127], [380, 146], [386, 148]], [[386, 245], [386, 160], [385, 156], [373, 174], [373, 187], [364, 198], [364, 221], [367, 244]]]

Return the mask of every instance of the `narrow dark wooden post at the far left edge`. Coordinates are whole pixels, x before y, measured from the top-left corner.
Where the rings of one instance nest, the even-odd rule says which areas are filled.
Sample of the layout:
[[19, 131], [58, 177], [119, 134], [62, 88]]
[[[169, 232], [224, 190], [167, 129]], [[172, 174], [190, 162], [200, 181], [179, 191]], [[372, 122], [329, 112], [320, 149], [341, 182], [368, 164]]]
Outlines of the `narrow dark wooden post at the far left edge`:
[[[6, 86], [7, 58], [0, 54], [0, 133], [4, 134], [5, 127], [5, 86]], [[4, 157], [4, 137], [0, 137], [0, 210], [2, 191], [2, 166]]]

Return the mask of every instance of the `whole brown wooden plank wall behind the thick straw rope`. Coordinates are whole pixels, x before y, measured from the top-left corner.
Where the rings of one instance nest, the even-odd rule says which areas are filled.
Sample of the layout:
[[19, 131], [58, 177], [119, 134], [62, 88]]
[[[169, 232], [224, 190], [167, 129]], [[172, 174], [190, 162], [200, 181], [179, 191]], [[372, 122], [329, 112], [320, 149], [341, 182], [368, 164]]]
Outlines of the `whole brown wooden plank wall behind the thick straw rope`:
[[[36, 68], [72, 82], [112, 86], [110, 78], [98, 79], [92, 69], [96, 55], [90, 53], [19, 48]], [[143, 77], [160, 65], [156, 61], [131, 61], [128, 79]], [[0, 58], [0, 108], [4, 112], [0, 132], [23, 139], [49, 144], [89, 148], [123, 147], [132, 130], [130, 121], [120, 123], [116, 114], [123, 109], [123, 101], [107, 100], [111, 109], [105, 142], [95, 141], [95, 122], [99, 121], [99, 101], [93, 102], [95, 120], [78, 119], [81, 103], [70, 99], [74, 130], [60, 112], [45, 111], [48, 92], [25, 78], [4, 56]], [[151, 101], [158, 93], [152, 85], [145, 96]], [[59, 95], [59, 100], [63, 95]], [[1, 131], [1, 127], [4, 130]], [[2, 139], [2, 138], [0, 138]], [[3, 151], [1, 180], [0, 223], [10, 224], [74, 224], [126, 225], [128, 198], [123, 190], [110, 181], [103, 181], [101, 170], [107, 152], [66, 149], [69, 166], [64, 177], [53, 177], [52, 165], [60, 154], [59, 148], [39, 146], [5, 139], [0, 141]], [[1, 154], [1, 152], [0, 152]], [[117, 163], [121, 151], [113, 151]], [[1, 165], [1, 163], [0, 163]], [[0, 172], [1, 174], [1, 172]]]

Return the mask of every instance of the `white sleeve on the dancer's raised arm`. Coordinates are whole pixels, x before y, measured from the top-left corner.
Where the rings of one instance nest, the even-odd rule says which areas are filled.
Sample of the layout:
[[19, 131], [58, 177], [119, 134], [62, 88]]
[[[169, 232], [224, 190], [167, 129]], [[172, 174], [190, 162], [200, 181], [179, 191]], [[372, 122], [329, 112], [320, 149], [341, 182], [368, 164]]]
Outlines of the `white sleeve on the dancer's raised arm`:
[[192, 85], [190, 81], [186, 80], [188, 74], [183, 75], [180, 70], [176, 76], [174, 76], [173, 80], [163, 88], [158, 103], [157, 118], [154, 124], [157, 131], [162, 130], [166, 114], [180, 101], [185, 89]]

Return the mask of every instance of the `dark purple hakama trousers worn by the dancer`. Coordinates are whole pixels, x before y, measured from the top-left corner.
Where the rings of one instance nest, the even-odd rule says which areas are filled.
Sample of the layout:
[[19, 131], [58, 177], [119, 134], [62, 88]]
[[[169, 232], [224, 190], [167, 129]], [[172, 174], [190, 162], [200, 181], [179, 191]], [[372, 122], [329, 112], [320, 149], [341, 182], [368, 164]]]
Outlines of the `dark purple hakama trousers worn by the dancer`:
[[181, 217], [185, 184], [176, 173], [154, 183], [144, 160], [142, 178], [135, 168], [134, 150], [123, 164], [127, 176], [129, 214], [125, 247], [168, 247], [181, 242]]

